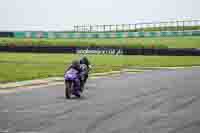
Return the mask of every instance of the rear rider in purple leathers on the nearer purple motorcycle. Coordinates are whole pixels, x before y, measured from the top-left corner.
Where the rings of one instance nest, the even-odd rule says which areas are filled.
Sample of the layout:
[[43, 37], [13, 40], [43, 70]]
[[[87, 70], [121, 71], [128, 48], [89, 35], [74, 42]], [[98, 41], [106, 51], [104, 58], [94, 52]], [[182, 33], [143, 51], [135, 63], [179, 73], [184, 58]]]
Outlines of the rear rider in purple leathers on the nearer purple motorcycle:
[[80, 92], [81, 92], [81, 81], [80, 81], [81, 72], [82, 70], [80, 68], [80, 62], [78, 60], [73, 60], [71, 65], [65, 71], [65, 75], [66, 73], [75, 73], [77, 75], [77, 78], [75, 79], [75, 88], [74, 88], [75, 90], [73, 92], [73, 94], [77, 97], [80, 97]]

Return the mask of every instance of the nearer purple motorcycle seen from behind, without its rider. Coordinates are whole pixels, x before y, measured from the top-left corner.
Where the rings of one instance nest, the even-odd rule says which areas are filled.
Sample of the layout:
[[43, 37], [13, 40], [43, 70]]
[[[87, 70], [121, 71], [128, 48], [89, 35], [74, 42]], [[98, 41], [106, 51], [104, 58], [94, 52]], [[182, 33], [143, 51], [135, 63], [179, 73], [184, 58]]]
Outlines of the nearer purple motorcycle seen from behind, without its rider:
[[80, 97], [79, 91], [77, 88], [76, 80], [79, 79], [78, 72], [75, 69], [70, 69], [65, 73], [65, 97], [70, 99], [72, 95]]

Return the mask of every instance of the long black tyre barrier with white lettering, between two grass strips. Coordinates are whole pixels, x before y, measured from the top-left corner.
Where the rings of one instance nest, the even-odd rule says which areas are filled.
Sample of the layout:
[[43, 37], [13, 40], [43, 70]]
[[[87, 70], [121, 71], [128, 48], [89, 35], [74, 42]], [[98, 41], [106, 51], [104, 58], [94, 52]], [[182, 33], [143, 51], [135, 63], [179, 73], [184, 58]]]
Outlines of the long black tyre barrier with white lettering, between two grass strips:
[[0, 52], [110, 54], [110, 55], [161, 55], [200, 56], [198, 48], [114, 48], [114, 47], [65, 47], [65, 46], [0, 46]]

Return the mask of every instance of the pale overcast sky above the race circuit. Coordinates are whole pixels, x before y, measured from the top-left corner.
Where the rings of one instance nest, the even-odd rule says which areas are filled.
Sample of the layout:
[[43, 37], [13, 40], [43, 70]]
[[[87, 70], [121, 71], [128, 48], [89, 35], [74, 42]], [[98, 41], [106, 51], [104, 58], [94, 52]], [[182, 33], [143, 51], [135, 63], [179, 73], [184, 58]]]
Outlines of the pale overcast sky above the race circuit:
[[0, 30], [200, 19], [200, 0], [1, 0]]

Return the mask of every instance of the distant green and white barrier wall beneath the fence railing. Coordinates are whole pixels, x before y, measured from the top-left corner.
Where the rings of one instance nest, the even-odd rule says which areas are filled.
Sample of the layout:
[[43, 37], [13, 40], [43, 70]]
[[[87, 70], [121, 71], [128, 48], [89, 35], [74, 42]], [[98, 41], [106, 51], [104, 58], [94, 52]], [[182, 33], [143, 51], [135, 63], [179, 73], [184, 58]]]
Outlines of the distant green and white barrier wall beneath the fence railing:
[[200, 36], [200, 31], [163, 32], [104, 32], [104, 33], [59, 33], [59, 32], [14, 32], [16, 38], [135, 38]]

